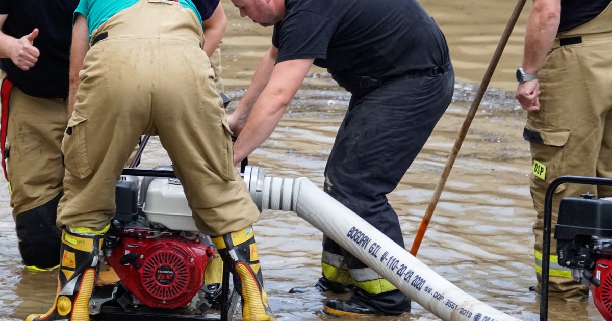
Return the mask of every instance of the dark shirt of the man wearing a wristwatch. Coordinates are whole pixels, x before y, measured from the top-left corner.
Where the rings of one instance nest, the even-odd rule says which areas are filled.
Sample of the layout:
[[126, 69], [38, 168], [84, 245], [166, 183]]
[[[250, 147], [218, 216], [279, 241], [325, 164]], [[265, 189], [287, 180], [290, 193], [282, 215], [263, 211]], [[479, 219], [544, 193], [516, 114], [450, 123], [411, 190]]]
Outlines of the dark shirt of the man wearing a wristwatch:
[[597, 17], [610, 4], [610, 0], [561, 0], [559, 32], [568, 31]]

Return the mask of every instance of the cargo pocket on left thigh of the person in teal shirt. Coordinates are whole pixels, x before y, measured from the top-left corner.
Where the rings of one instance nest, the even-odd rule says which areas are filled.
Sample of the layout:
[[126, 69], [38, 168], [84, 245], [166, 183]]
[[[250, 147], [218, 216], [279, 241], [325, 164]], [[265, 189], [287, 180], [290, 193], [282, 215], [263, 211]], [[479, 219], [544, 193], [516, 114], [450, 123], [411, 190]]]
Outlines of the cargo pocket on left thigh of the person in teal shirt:
[[87, 116], [75, 111], [68, 120], [62, 140], [62, 153], [64, 154], [66, 170], [81, 179], [91, 174], [85, 139], [86, 120]]

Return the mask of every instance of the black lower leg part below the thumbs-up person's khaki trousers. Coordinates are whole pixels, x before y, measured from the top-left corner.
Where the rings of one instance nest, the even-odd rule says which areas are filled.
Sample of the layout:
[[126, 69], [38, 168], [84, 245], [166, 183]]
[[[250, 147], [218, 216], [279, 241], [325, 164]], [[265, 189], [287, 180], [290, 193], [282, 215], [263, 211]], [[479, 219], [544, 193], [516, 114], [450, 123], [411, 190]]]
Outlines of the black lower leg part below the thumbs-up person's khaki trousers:
[[51, 270], [59, 265], [62, 231], [55, 220], [61, 196], [15, 216], [19, 253], [30, 270]]

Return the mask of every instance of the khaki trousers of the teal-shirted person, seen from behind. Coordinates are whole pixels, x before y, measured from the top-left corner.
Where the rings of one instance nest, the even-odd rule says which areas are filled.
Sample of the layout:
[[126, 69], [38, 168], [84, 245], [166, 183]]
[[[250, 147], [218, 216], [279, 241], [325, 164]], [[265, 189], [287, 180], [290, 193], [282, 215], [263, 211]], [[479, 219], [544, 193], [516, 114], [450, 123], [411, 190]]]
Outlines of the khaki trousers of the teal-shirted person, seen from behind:
[[179, 2], [141, 0], [92, 32], [62, 142], [64, 197], [58, 226], [100, 231], [133, 142], [159, 135], [201, 232], [254, 223], [259, 211], [233, 166], [231, 133], [215, 90], [200, 21]]

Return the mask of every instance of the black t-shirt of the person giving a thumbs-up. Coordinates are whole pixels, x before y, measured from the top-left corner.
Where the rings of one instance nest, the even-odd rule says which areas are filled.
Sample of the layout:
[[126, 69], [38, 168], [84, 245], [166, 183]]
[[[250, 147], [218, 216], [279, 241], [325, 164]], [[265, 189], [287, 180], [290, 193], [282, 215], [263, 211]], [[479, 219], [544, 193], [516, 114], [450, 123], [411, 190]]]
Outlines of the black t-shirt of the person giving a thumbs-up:
[[21, 38], [34, 28], [34, 46], [40, 56], [34, 67], [23, 71], [4, 58], [2, 69], [25, 94], [40, 98], [68, 96], [72, 13], [78, 0], [0, 0], [0, 14], [8, 14], [5, 34]]

